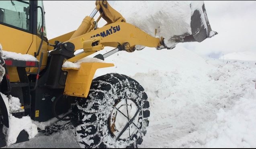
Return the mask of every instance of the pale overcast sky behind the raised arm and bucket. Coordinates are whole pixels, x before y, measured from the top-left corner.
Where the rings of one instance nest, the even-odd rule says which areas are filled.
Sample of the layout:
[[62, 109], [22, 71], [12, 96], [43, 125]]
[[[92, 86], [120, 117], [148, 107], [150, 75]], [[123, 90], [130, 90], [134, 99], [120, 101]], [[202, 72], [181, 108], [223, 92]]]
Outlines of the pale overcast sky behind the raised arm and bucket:
[[[76, 30], [84, 16], [90, 15], [94, 3], [44, 1], [47, 37], [51, 39]], [[215, 58], [232, 52], [256, 50], [256, 1], [205, 1], [205, 8], [211, 28], [219, 34], [201, 43], [181, 43], [182, 46], [201, 56]]]

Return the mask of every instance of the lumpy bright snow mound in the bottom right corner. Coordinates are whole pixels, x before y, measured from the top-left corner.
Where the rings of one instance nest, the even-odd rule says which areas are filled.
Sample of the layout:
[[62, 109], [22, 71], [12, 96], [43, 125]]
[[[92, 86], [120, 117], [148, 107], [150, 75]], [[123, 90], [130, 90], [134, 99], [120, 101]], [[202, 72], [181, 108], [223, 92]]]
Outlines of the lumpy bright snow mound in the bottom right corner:
[[199, 144], [193, 147], [255, 148], [255, 89], [248, 91], [248, 97], [241, 98], [230, 111], [220, 109], [215, 123], [199, 136]]

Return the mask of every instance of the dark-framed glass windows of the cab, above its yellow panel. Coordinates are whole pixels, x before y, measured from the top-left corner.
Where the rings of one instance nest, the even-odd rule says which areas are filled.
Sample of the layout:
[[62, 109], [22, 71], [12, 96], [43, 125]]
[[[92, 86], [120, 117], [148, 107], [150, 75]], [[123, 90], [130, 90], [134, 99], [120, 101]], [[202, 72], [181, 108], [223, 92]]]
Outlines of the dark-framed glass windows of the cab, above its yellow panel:
[[[1, 0], [0, 24], [40, 36], [44, 14], [36, 6], [43, 8], [42, 0]], [[46, 37], [45, 21], [43, 29]]]

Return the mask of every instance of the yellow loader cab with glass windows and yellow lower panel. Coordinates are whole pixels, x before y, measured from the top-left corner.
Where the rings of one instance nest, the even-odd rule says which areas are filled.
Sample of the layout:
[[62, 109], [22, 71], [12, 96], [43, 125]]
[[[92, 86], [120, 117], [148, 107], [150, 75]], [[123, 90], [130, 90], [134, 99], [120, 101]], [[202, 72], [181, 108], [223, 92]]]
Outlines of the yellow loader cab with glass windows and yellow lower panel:
[[[1, 0], [0, 44], [3, 50], [33, 56], [39, 48], [41, 48], [40, 54], [47, 52], [44, 16], [42, 0]], [[43, 38], [41, 38], [42, 30]], [[44, 42], [40, 47], [41, 40]]]

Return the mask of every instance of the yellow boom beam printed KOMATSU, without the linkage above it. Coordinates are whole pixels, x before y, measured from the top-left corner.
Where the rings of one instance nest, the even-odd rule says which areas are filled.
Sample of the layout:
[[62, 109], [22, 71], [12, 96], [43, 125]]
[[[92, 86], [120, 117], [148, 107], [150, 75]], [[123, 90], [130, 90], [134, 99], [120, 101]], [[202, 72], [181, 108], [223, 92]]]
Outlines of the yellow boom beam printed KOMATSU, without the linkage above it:
[[[88, 44], [90, 39], [92, 39], [92, 42], [97, 42], [97, 44], [94, 45], [92, 42]], [[80, 58], [93, 54], [98, 50], [102, 50], [104, 46], [111, 46], [115, 48], [122, 46], [122, 50], [126, 50], [127, 52], [133, 52], [135, 50], [135, 45], [156, 48], [161, 46], [160, 38], [150, 36], [136, 26], [126, 22], [111, 23], [103, 26], [102, 28], [98, 28], [97, 30], [92, 30], [87, 34], [72, 38], [67, 42], [73, 43], [75, 45], [75, 50], [84, 49], [84, 53], [68, 60], [71, 62], [75, 62]], [[126, 46], [127, 48], [123, 48], [127, 43], [129, 46]], [[98, 48], [94, 49], [96, 45]]]

